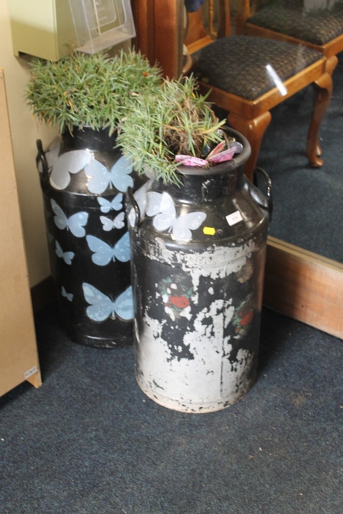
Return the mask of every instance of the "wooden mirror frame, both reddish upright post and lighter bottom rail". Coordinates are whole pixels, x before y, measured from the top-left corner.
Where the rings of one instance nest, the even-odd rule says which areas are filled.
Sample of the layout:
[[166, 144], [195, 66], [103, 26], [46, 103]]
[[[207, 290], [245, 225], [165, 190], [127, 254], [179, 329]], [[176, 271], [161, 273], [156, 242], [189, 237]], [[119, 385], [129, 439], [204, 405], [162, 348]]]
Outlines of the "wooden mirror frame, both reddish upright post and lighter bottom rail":
[[[181, 74], [184, 0], [131, 0], [140, 49], [164, 76]], [[343, 339], [343, 265], [268, 237], [263, 304]]]

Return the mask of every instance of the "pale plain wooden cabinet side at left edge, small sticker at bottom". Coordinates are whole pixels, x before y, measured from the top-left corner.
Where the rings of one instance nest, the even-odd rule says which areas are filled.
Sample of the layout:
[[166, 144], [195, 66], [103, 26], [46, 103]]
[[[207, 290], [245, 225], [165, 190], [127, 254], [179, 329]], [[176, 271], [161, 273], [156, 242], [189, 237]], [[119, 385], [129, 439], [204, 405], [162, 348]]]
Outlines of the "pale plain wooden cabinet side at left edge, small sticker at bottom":
[[41, 385], [16, 191], [4, 73], [0, 68], [0, 396], [29, 380]]

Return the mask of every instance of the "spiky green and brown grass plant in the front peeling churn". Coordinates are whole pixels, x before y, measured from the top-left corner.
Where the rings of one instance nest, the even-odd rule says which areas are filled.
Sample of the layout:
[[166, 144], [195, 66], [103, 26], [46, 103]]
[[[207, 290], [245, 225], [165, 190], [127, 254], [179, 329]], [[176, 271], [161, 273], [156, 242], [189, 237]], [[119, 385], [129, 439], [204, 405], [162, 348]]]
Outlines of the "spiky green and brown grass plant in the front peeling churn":
[[155, 96], [138, 99], [122, 124], [117, 144], [139, 174], [153, 172], [180, 184], [175, 155], [200, 157], [222, 139], [219, 122], [197, 91], [194, 77], [165, 80]]

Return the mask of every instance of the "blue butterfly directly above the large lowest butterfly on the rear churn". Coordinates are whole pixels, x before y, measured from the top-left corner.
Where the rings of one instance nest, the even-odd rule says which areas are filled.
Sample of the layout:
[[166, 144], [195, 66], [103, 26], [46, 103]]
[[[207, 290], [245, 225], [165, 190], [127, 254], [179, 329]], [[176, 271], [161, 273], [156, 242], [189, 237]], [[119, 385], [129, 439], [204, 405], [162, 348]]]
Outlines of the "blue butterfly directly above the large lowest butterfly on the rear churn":
[[120, 262], [130, 261], [129, 232], [125, 232], [114, 247], [94, 235], [87, 235], [86, 241], [89, 246], [89, 250], [94, 252], [92, 255], [92, 261], [97, 266], [106, 266], [116, 259]]

